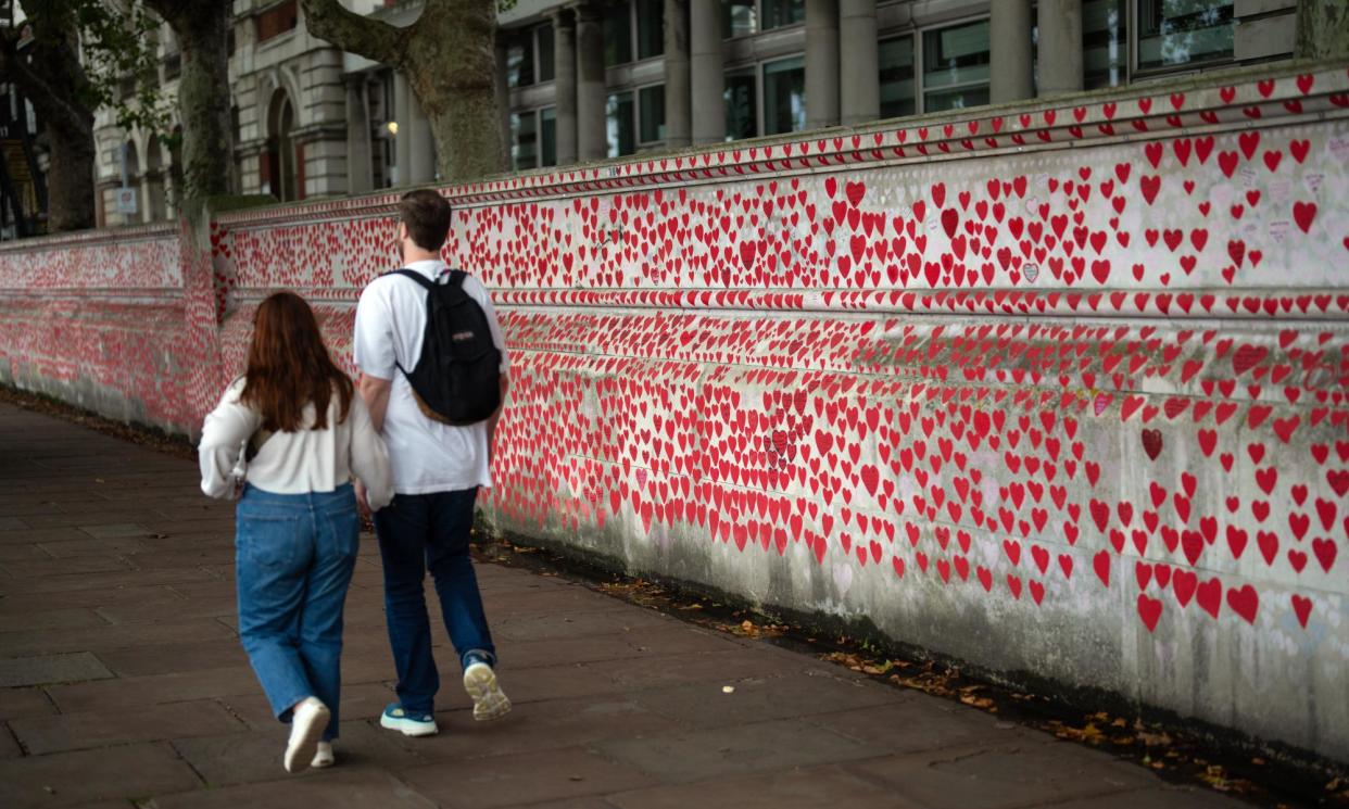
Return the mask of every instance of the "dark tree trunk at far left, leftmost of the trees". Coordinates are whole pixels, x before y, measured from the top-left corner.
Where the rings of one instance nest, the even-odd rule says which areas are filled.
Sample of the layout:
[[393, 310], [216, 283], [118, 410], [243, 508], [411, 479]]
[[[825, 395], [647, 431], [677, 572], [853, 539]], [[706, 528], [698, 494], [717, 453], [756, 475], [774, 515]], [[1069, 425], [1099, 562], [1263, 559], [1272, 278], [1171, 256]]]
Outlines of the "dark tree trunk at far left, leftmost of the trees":
[[[28, 9], [26, 9], [28, 11]], [[23, 90], [46, 128], [47, 231], [82, 231], [97, 224], [94, 208], [93, 111], [81, 101], [88, 77], [80, 66], [74, 30], [65, 19], [30, 15], [34, 39], [15, 50], [19, 31], [0, 42], [0, 76]]]

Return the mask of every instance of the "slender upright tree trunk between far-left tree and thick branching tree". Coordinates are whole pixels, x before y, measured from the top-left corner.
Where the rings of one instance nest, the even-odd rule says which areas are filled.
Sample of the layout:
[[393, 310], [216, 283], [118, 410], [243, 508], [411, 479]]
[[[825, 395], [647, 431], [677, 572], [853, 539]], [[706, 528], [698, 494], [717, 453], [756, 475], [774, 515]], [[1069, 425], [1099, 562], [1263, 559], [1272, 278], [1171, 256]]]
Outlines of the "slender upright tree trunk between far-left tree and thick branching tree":
[[229, 26], [233, 4], [219, 0], [146, 0], [173, 27], [182, 53], [178, 111], [182, 117], [183, 198], [231, 189], [235, 138], [229, 116]]

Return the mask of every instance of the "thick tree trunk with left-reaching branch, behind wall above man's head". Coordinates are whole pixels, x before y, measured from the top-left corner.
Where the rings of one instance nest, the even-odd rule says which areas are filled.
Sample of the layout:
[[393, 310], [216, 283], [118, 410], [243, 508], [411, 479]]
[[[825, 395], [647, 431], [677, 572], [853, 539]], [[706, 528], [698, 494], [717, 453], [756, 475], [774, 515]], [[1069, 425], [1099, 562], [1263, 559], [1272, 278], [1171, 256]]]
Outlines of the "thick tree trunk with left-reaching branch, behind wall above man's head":
[[309, 32], [399, 70], [430, 120], [441, 179], [464, 182], [506, 167], [496, 107], [496, 0], [426, 0], [398, 28], [343, 8], [301, 0]]

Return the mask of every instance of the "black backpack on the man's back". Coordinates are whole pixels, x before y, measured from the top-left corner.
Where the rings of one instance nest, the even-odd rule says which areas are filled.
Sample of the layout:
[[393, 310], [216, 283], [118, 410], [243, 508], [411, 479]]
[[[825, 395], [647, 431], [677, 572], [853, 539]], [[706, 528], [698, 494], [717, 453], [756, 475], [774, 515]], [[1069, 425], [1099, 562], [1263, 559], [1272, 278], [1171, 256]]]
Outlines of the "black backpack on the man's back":
[[487, 314], [464, 291], [463, 270], [448, 283], [434, 283], [414, 270], [395, 270], [426, 287], [426, 332], [422, 353], [409, 372], [413, 398], [426, 418], [465, 426], [487, 421], [502, 402], [502, 353], [492, 341]]

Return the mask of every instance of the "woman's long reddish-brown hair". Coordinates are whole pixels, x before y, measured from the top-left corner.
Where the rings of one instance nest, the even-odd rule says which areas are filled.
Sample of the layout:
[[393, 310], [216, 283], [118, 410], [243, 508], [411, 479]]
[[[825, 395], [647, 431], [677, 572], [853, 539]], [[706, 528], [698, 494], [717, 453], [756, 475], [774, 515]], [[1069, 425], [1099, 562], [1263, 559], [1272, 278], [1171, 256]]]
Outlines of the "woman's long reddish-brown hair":
[[262, 413], [263, 427], [271, 431], [302, 429], [310, 402], [312, 427], [328, 427], [333, 391], [341, 400], [339, 423], [351, 411], [351, 378], [333, 363], [314, 311], [294, 293], [277, 293], [258, 306], [244, 380], [240, 400]]

